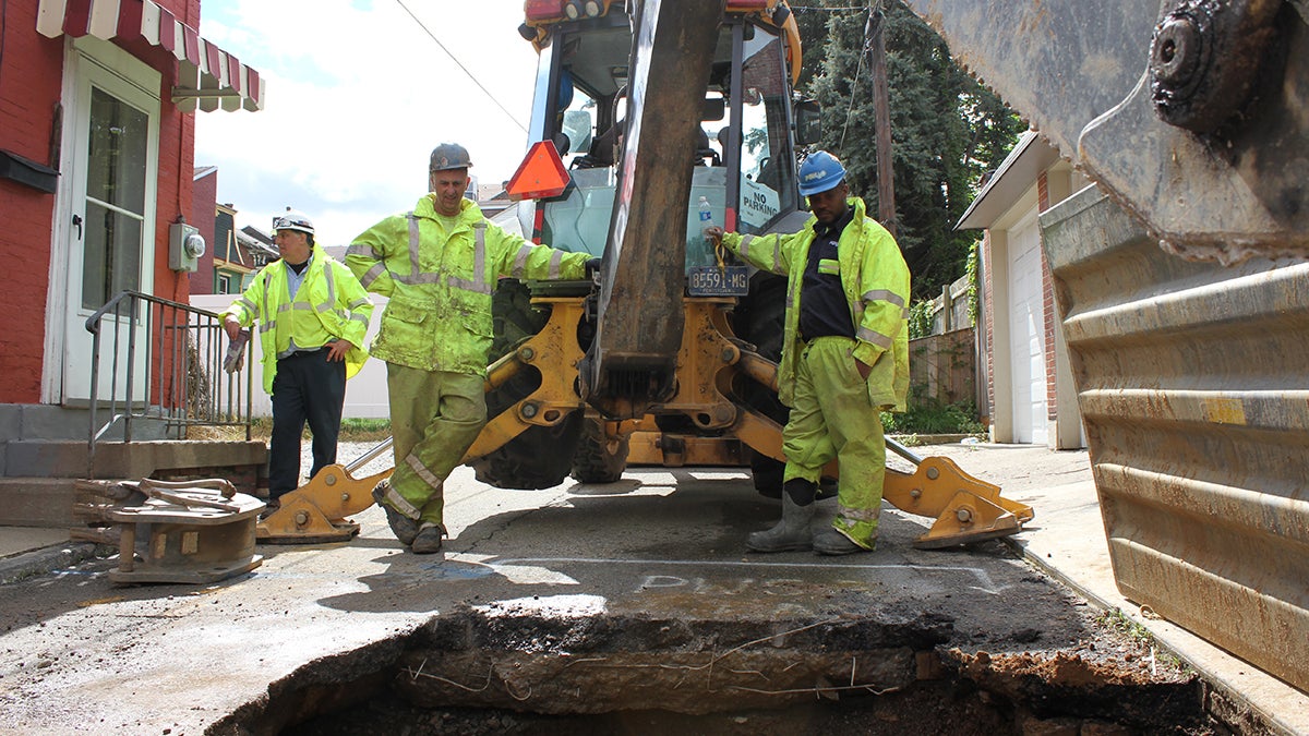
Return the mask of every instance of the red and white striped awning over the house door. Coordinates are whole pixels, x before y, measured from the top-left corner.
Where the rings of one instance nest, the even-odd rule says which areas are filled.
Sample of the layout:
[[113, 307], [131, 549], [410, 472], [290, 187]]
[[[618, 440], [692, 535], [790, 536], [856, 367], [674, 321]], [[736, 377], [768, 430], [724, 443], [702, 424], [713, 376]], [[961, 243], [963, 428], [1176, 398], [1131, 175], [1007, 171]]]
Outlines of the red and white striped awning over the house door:
[[41, 0], [37, 31], [48, 38], [140, 38], [168, 50], [178, 60], [173, 103], [183, 113], [263, 109], [259, 72], [151, 0]]

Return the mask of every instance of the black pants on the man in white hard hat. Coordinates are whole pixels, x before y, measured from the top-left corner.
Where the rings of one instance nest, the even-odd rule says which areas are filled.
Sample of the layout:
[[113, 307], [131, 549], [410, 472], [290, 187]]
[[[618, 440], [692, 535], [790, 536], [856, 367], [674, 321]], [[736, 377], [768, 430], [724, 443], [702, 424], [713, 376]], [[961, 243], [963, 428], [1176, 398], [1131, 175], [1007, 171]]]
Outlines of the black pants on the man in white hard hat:
[[300, 435], [309, 423], [314, 440], [313, 478], [336, 462], [336, 435], [346, 405], [346, 361], [327, 361], [327, 348], [278, 360], [272, 378], [272, 440], [268, 447], [268, 498], [300, 486]]

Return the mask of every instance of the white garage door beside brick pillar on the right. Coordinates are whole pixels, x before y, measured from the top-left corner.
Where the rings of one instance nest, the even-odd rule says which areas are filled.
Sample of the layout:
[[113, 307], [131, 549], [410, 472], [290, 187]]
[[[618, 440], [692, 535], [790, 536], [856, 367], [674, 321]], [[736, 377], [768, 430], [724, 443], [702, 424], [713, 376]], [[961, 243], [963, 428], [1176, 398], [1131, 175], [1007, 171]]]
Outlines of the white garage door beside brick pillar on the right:
[[1046, 444], [1046, 310], [1035, 215], [1009, 230], [1009, 356], [1013, 441]]

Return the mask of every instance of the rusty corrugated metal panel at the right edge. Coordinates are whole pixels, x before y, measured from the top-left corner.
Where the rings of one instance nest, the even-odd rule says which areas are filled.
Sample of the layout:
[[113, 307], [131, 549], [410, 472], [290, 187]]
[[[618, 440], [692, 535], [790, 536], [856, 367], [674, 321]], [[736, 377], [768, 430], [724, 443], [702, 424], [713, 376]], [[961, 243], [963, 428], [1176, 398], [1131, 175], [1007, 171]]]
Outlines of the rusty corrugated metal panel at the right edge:
[[1309, 263], [1183, 261], [1094, 187], [1041, 224], [1119, 589], [1309, 689]]

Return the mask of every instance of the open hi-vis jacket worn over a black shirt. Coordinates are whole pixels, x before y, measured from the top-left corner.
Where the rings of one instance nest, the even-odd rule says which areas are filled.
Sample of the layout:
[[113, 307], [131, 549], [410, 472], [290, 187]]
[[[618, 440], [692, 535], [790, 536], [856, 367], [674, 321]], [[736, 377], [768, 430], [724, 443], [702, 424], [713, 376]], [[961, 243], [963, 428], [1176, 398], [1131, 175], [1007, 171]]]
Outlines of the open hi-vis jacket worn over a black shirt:
[[[895, 238], [867, 216], [864, 200], [848, 200], [855, 216], [836, 244], [840, 285], [855, 321], [853, 356], [872, 367], [873, 406], [905, 411], [908, 399], [910, 274]], [[800, 358], [800, 287], [817, 217], [792, 234], [724, 233], [723, 244], [758, 268], [787, 275], [787, 317], [778, 365], [778, 398], [791, 406]]]

